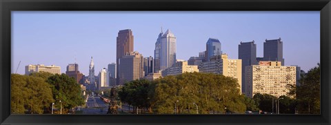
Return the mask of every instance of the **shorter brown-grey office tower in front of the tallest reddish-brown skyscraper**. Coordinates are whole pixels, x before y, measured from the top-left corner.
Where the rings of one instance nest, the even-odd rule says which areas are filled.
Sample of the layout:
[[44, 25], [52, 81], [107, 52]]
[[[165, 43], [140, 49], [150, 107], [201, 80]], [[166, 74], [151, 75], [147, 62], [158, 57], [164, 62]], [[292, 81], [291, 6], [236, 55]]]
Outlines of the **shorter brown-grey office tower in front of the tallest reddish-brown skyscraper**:
[[143, 78], [143, 55], [139, 52], [130, 52], [127, 55], [119, 58], [119, 73], [120, 84], [126, 81]]

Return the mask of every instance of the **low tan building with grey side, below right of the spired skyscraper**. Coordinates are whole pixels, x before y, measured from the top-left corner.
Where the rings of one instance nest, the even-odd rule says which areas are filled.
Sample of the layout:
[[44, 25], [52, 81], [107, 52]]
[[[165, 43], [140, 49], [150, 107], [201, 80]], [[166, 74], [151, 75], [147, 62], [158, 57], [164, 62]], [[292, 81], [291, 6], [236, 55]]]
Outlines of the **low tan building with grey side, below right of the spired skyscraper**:
[[180, 75], [182, 73], [199, 72], [198, 66], [189, 66], [188, 61], [181, 61], [177, 59], [176, 63], [170, 68], [166, 68], [162, 72], [162, 76]]

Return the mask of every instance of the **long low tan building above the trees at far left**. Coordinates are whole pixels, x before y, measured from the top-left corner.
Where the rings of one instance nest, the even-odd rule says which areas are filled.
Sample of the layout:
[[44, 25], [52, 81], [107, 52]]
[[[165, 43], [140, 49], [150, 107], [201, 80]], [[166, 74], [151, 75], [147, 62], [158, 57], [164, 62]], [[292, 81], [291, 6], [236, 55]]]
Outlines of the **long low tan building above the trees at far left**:
[[34, 73], [34, 72], [39, 73], [41, 71], [52, 74], [61, 74], [61, 67], [55, 65], [44, 66], [43, 64], [26, 66], [26, 75], [30, 75], [30, 73]]

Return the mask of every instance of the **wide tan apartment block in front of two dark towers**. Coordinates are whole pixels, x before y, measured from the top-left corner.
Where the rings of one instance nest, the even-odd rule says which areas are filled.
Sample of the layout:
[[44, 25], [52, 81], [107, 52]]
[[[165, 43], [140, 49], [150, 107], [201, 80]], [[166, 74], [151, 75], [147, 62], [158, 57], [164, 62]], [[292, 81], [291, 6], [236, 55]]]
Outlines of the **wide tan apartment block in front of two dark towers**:
[[257, 93], [275, 97], [290, 93], [290, 85], [296, 84], [296, 67], [281, 66], [281, 61], [259, 61], [259, 65], [245, 67], [245, 95]]

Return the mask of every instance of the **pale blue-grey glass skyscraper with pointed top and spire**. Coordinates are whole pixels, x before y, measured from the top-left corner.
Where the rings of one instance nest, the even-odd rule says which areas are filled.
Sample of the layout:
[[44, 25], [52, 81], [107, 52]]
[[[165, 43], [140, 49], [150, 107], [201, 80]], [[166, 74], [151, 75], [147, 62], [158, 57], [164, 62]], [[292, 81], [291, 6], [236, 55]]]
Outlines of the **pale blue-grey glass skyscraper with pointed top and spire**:
[[176, 37], [168, 29], [164, 34], [161, 30], [154, 50], [154, 73], [170, 68], [176, 63]]

